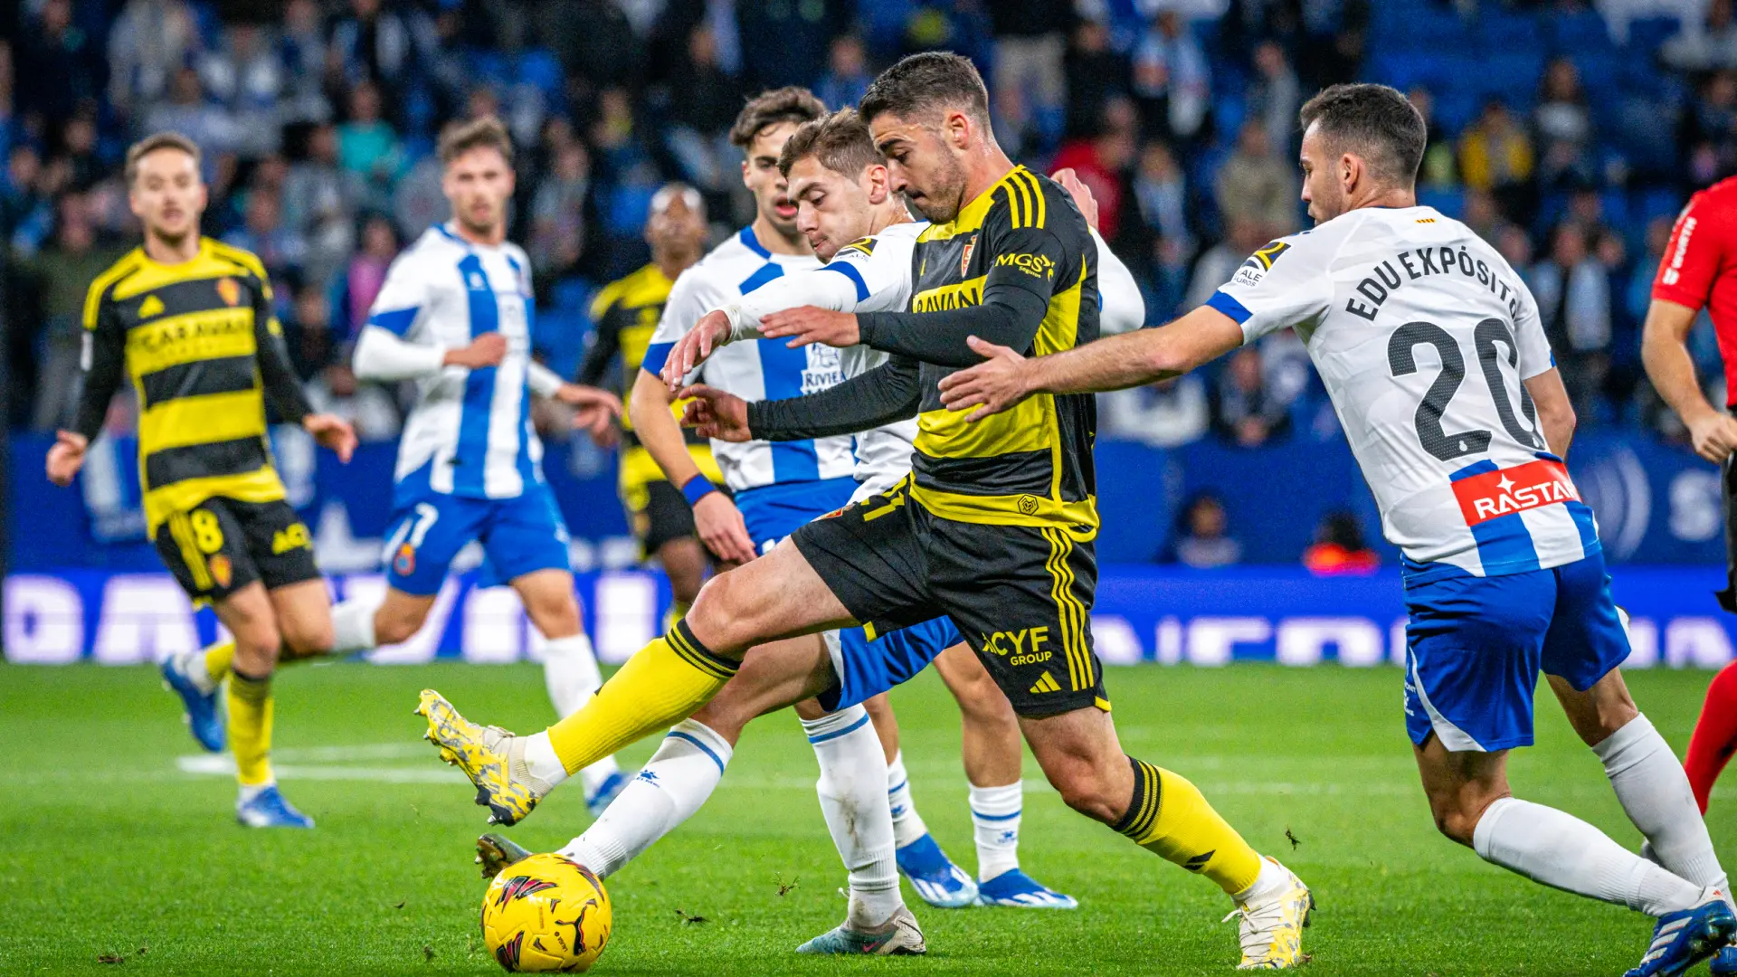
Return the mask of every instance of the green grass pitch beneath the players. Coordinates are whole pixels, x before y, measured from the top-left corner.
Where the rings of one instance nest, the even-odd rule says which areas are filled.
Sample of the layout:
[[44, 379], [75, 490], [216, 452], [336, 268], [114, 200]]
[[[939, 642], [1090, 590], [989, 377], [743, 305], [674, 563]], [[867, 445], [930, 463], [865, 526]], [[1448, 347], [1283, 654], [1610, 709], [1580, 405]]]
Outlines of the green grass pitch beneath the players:
[[[1641, 708], [1681, 751], [1706, 673], [1635, 673]], [[467, 714], [547, 721], [530, 666], [292, 668], [278, 678], [285, 793], [311, 833], [245, 831], [233, 782], [179, 721], [153, 671], [0, 666], [0, 974], [495, 974], [481, 951], [483, 812], [420, 742], [424, 685]], [[1391, 668], [1112, 669], [1124, 748], [1193, 779], [1263, 852], [1306, 878], [1318, 913], [1304, 974], [1621, 974], [1648, 920], [1553, 892], [1435, 834]], [[974, 867], [957, 713], [931, 675], [895, 692], [915, 800]], [[1629, 847], [1598, 761], [1548, 692], [1522, 796], [1588, 817]], [[643, 761], [651, 741], [625, 753]], [[650, 974], [1230, 974], [1228, 901], [1068, 812], [1027, 760], [1021, 855], [1080, 899], [1073, 913], [931, 909], [907, 887], [928, 958], [813, 960], [792, 947], [842, 916], [842, 869], [790, 714], [743, 737], [712, 801], [610, 880], [615, 935], [594, 968]], [[1709, 826], [1737, 862], [1737, 803]], [[1721, 800], [1723, 798], [1723, 800]], [[511, 834], [554, 848], [589, 817], [558, 793]], [[1298, 843], [1287, 840], [1292, 834]], [[705, 921], [686, 921], [703, 916]], [[99, 961], [99, 956], [123, 961]]]

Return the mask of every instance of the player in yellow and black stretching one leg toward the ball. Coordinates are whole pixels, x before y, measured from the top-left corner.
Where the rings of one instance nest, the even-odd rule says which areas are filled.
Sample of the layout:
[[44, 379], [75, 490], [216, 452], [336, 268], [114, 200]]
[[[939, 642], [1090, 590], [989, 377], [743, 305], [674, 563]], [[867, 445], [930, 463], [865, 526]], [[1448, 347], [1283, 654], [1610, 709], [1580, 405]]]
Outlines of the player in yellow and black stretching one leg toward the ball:
[[915, 311], [763, 318], [763, 336], [893, 356], [818, 395], [750, 403], [719, 435], [823, 436], [917, 415], [912, 478], [712, 577], [688, 617], [549, 730], [483, 730], [429, 690], [420, 709], [431, 739], [495, 817], [512, 822], [568, 770], [691, 714], [738, 669], [756, 668], [756, 645], [948, 615], [1020, 713], [1061, 798], [1221, 887], [1240, 916], [1242, 967], [1298, 965], [1313, 902], [1301, 880], [1256, 854], [1186, 779], [1117, 744], [1087, 628], [1098, 528], [1091, 398], [1034, 398], [983, 426], [940, 403], [938, 381], [976, 362], [968, 336], [1046, 353], [1096, 336], [1098, 256], [1086, 221], [1067, 191], [997, 146], [988, 92], [964, 57], [905, 57], [860, 108], [889, 160], [891, 188], [935, 223], [912, 256]]

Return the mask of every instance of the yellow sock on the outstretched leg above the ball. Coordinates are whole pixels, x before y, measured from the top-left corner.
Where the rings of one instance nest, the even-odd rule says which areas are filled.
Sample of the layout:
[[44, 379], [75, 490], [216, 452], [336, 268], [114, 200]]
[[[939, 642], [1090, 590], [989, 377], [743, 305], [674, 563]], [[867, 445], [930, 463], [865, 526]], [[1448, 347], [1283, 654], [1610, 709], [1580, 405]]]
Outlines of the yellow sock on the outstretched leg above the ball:
[[639, 648], [591, 702], [549, 727], [549, 746], [577, 774], [636, 739], [693, 714], [742, 662], [712, 654], [686, 621]]

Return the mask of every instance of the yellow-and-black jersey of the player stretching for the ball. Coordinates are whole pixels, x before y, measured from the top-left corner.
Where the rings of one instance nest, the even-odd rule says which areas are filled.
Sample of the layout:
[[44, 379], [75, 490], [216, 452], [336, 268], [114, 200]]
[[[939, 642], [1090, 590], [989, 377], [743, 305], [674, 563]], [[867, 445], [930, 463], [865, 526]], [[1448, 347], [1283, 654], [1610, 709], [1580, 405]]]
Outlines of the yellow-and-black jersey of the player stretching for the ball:
[[981, 362], [980, 336], [1027, 356], [1098, 339], [1098, 245], [1067, 189], [1014, 167], [931, 224], [912, 252], [910, 311], [856, 313], [862, 342], [893, 353], [829, 391], [749, 405], [759, 438], [808, 438], [917, 415], [910, 497], [936, 516], [1096, 528], [1091, 395], [1034, 395], [974, 424], [940, 381]]

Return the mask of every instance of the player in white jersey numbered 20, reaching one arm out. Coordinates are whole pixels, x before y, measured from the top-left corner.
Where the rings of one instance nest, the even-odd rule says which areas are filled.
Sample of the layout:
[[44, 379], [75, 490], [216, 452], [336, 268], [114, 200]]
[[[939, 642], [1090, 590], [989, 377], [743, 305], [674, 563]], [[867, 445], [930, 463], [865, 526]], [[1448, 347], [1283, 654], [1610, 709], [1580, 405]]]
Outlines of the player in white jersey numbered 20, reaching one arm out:
[[[1296, 329], [1405, 553], [1405, 728], [1436, 827], [1527, 878], [1657, 916], [1629, 974], [1681, 974], [1737, 918], [1688, 781], [1617, 671], [1628, 636], [1562, 461], [1574, 409], [1537, 304], [1470, 228], [1417, 205], [1424, 122], [1405, 96], [1334, 85], [1301, 122], [1315, 229], [1254, 252], [1162, 329], [1035, 358], [973, 339], [988, 362], [941, 381], [941, 396], [983, 429]], [[1508, 751], [1532, 742], [1539, 671], [1659, 864], [1513, 796]]]

